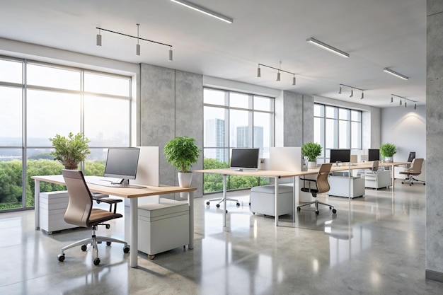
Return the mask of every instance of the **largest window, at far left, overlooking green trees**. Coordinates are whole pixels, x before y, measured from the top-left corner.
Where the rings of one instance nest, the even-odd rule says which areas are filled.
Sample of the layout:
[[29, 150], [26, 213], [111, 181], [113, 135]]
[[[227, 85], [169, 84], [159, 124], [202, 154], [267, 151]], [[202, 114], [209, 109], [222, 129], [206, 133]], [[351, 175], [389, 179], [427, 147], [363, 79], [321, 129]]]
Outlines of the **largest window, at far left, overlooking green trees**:
[[30, 177], [61, 173], [55, 134], [84, 133], [84, 173], [103, 174], [107, 149], [130, 145], [130, 85], [128, 76], [0, 57], [0, 210], [33, 207]]

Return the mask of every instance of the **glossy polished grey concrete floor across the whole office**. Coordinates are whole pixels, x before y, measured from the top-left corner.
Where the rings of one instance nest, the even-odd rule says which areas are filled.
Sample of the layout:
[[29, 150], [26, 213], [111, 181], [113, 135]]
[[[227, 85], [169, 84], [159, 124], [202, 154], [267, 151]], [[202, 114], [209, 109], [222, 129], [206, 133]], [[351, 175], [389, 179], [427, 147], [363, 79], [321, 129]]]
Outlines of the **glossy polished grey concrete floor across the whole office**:
[[[34, 212], [0, 214], [0, 294], [443, 294], [425, 279], [425, 187], [366, 190], [363, 198], [320, 197], [333, 204], [274, 218], [251, 214], [248, 192], [222, 209], [195, 201], [195, 248], [176, 248], [129, 267], [121, 245], [91, 250], [62, 245], [88, 236], [74, 229], [34, 231]], [[211, 195], [210, 197], [214, 197]], [[306, 207], [305, 207], [306, 208]], [[121, 210], [123, 211], [123, 210]], [[122, 219], [100, 235], [124, 236]]]

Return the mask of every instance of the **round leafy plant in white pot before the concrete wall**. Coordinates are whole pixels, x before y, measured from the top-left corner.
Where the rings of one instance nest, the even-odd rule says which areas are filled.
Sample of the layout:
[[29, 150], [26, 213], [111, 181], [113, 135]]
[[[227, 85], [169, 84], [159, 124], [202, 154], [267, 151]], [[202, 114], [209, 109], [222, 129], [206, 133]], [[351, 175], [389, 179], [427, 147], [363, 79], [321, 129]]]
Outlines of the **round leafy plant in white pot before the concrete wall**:
[[168, 141], [163, 149], [166, 161], [171, 163], [178, 172], [178, 185], [180, 187], [190, 187], [192, 173], [190, 168], [193, 163], [197, 163], [200, 156], [200, 149], [195, 144], [192, 137], [176, 137]]

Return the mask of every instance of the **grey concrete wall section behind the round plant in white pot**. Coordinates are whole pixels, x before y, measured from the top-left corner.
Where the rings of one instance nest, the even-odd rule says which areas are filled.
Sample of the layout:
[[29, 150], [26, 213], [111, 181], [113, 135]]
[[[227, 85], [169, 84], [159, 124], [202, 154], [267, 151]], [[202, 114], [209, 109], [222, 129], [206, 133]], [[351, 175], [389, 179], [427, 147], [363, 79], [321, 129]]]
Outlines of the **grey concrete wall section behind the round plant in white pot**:
[[[178, 136], [193, 137], [203, 149], [202, 75], [150, 64], [141, 65], [140, 75], [140, 145], [159, 146], [160, 183], [178, 185], [177, 171], [166, 161], [163, 147]], [[192, 169], [203, 168], [203, 155]], [[203, 175], [192, 176], [202, 196]]]

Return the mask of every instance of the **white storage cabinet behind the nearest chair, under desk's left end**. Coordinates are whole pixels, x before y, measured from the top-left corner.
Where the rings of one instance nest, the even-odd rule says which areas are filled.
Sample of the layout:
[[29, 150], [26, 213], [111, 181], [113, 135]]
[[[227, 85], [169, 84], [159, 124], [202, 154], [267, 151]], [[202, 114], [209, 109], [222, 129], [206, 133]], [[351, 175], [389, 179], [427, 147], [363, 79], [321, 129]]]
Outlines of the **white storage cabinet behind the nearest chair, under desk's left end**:
[[40, 229], [52, 234], [54, 231], [72, 229], [74, 224], [64, 222], [64, 212], [68, 207], [68, 191], [40, 192]]

